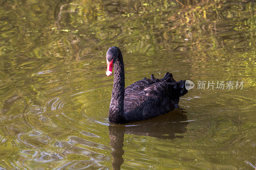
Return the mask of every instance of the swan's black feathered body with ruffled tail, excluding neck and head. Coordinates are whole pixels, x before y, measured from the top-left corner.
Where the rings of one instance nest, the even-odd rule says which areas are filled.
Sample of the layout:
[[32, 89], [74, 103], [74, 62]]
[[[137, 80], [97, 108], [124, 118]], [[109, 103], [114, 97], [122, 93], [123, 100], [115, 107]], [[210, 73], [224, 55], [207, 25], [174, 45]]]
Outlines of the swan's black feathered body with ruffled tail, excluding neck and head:
[[176, 82], [171, 73], [164, 78], [144, 78], [125, 88], [124, 113], [128, 122], [144, 120], [168, 113], [179, 107], [180, 96], [188, 91], [185, 80]]

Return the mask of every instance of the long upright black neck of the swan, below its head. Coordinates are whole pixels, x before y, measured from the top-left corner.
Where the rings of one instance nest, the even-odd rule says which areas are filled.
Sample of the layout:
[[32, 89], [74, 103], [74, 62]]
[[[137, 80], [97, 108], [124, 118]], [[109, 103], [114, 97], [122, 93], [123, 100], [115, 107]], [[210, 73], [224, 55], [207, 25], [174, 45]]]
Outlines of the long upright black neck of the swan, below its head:
[[114, 68], [114, 84], [109, 106], [109, 121], [112, 123], [125, 123], [124, 117], [124, 61], [119, 48]]

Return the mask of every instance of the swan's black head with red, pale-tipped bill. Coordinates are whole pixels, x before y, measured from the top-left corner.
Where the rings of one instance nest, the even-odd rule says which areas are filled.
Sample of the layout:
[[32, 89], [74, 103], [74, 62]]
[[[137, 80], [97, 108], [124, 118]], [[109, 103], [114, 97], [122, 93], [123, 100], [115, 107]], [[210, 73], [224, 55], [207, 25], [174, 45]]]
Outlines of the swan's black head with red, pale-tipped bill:
[[116, 58], [118, 55], [117, 47], [110, 47], [107, 51], [107, 71], [106, 75], [110, 76], [112, 74], [113, 65], [116, 62]]

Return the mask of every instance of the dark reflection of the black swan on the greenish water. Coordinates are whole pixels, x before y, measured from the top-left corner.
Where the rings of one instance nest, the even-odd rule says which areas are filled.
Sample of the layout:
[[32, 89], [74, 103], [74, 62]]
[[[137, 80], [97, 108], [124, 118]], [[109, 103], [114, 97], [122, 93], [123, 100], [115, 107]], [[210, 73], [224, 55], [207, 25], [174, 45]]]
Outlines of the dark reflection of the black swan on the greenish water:
[[113, 169], [120, 169], [124, 159], [124, 133], [150, 136], [159, 139], [175, 139], [183, 138], [182, 135], [175, 135], [176, 133], [185, 133], [188, 125], [187, 115], [184, 110], [176, 109], [171, 113], [158, 116], [153, 119], [132, 122], [125, 125], [111, 124], [108, 126], [108, 133], [110, 139], [110, 146], [113, 148], [111, 155], [113, 156]]

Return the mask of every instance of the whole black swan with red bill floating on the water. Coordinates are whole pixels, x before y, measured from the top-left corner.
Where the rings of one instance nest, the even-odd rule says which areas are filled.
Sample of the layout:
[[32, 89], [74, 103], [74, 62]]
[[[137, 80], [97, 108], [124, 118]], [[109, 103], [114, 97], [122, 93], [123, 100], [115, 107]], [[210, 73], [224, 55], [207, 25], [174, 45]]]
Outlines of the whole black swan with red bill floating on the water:
[[176, 82], [171, 73], [164, 78], [143, 78], [124, 89], [124, 61], [118, 47], [110, 47], [107, 51], [106, 75], [112, 74], [114, 68], [114, 84], [109, 106], [109, 122], [128, 123], [150, 119], [166, 114], [179, 107], [180, 96], [186, 94], [185, 80]]

